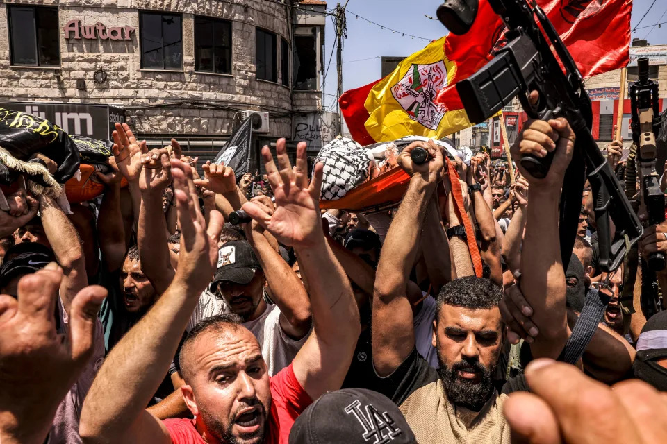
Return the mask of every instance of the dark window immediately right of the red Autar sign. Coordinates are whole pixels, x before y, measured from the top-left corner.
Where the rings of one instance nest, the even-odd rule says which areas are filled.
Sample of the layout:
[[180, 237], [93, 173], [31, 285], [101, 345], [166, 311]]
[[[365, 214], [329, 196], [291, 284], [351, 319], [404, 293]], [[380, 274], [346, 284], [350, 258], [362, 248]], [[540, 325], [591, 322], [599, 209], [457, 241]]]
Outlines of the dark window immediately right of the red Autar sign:
[[141, 67], [183, 69], [181, 16], [141, 12]]

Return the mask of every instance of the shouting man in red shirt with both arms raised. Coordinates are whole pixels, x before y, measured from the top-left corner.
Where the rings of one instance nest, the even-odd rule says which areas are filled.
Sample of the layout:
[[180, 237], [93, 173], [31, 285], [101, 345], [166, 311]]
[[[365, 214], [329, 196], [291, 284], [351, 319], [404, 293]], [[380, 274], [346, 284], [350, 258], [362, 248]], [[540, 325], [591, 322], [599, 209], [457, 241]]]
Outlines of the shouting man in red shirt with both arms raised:
[[[278, 167], [269, 148], [262, 151], [275, 211], [258, 202], [246, 203], [243, 210], [281, 244], [294, 247], [311, 298], [311, 336], [290, 366], [269, 377], [255, 337], [233, 318], [213, 318], [195, 327], [181, 347], [186, 382], [182, 393], [195, 419], [163, 422], [143, 408], [167, 372], [199, 294], [213, 277], [222, 230], [216, 211], [206, 230], [190, 168], [179, 160], [172, 160], [170, 167], [151, 161], [151, 167], [165, 173], [171, 169], [174, 176], [182, 230], [179, 268], [167, 291], [99, 370], [81, 413], [85, 443], [287, 443], [295, 418], [308, 404], [340, 388], [359, 338], [359, 311], [322, 233], [322, 164], [308, 185], [306, 144], [297, 146], [295, 171], [284, 139], [277, 154]], [[220, 167], [208, 179], [233, 182], [226, 170]]]

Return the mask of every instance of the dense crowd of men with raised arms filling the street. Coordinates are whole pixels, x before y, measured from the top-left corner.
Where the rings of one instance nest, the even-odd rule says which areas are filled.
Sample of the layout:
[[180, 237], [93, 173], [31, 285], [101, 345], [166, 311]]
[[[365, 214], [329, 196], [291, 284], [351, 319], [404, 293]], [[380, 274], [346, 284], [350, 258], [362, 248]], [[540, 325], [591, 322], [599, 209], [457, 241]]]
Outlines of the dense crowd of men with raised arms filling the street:
[[[620, 308], [590, 189], [561, 261], [564, 119], [525, 124], [513, 157], [554, 158], [513, 183], [511, 164], [415, 142], [400, 204], [373, 214], [320, 210], [304, 143], [295, 165], [284, 139], [263, 148], [265, 176], [237, 182], [224, 164], [199, 177], [176, 140], [113, 139], [101, 198], [67, 214], [19, 189], [0, 212], [0, 443], [666, 442], [667, 311], [644, 318], [641, 270]], [[645, 230], [655, 251], [667, 224]]]

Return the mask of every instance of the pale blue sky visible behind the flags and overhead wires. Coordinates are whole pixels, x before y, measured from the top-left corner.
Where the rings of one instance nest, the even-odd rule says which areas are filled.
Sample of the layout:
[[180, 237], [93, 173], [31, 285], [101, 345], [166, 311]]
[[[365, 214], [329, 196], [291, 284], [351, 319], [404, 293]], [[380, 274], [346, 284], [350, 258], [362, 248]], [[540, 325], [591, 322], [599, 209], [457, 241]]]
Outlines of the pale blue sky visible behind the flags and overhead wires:
[[[607, 0], [609, 1], [609, 0]], [[345, 0], [340, 3], [345, 4]], [[443, 37], [447, 30], [435, 17], [438, 0], [349, 0], [347, 4], [347, 39], [343, 45], [343, 91], [353, 89], [378, 80], [381, 77], [381, 56], [409, 56], [419, 51], [428, 42], [412, 37], [403, 37], [401, 33], [425, 37], [429, 40]], [[639, 26], [637, 23], [654, 3], [651, 10]], [[329, 1], [327, 9], [336, 8], [336, 2]], [[359, 15], [359, 19], [356, 18]], [[380, 25], [393, 28], [400, 33], [368, 24], [372, 20]], [[632, 26], [638, 27], [632, 37], [645, 38], [650, 44], [667, 44], [667, 23], [661, 28], [652, 26], [658, 22], [667, 22], [666, 0], [634, 0]], [[649, 26], [645, 28], [645, 26]], [[331, 51], [334, 49], [336, 29], [331, 20], [327, 22], [325, 37], [324, 68], [329, 65]], [[370, 60], [363, 60], [370, 59]], [[357, 61], [361, 60], [361, 61]], [[336, 53], [331, 58], [331, 67], [326, 79], [324, 105], [333, 105], [336, 97]]]

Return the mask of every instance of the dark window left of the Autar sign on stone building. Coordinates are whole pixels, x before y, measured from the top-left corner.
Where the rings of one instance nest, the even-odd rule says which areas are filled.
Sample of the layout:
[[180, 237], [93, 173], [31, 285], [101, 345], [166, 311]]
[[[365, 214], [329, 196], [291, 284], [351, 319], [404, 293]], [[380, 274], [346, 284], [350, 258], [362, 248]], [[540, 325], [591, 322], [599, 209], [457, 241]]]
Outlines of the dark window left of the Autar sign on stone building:
[[8, 6], [12, 65], [60, 65], [58, 8]]

